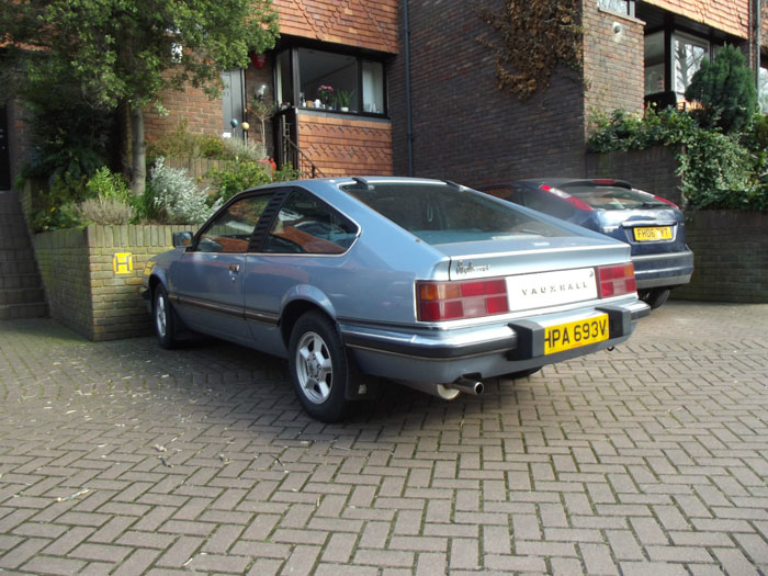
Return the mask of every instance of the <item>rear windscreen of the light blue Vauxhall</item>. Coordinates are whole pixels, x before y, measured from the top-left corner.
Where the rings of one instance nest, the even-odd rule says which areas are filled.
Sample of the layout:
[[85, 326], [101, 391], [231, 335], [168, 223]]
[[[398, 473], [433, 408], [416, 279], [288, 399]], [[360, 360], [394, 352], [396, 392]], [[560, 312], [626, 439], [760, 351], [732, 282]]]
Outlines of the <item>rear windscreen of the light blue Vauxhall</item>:
[[386, 182], [342, 189], [431, 245], [568, 235], [511, 204], [448, 183]]

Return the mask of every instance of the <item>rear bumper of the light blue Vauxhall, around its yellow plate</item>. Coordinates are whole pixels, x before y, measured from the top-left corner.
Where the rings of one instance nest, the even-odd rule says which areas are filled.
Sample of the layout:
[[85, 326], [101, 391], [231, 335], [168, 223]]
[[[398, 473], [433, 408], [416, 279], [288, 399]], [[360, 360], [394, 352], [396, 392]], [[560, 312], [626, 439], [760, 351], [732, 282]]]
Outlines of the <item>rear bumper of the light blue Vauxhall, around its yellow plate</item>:
[[[650, 313], [639, 301], [609, 304], [537, 320], [512, 320], [485, 327], [406, 332], [340, 324], [345, 345], [358, 366], [372, 375], [414, 382], [448, 384], [461, 376], [493, 377], [552, 364], [625, 341], [636, 320]], [[551, 354], [544, 353], [549, 325], [607, 313], [609, 339]]]

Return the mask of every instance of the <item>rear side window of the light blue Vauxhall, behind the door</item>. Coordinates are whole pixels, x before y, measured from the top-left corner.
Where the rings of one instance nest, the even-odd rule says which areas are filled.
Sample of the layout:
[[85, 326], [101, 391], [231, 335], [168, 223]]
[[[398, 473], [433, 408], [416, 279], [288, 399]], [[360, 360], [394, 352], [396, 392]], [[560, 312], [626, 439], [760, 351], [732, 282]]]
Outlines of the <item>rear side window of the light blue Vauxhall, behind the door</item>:
[[342, 253], [358, 227], [319, 199], [294, 190], [280, 208], [264, 242], [266, 252]]

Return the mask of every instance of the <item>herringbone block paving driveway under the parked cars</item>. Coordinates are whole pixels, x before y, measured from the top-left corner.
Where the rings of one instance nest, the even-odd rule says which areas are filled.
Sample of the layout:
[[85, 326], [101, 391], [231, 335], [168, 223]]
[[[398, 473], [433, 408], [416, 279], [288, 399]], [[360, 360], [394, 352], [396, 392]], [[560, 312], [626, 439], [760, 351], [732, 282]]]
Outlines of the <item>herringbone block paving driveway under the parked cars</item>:
[[282, 361], [0, 324], [0, 573], [768, 574], [768, 305], [343, 425]]

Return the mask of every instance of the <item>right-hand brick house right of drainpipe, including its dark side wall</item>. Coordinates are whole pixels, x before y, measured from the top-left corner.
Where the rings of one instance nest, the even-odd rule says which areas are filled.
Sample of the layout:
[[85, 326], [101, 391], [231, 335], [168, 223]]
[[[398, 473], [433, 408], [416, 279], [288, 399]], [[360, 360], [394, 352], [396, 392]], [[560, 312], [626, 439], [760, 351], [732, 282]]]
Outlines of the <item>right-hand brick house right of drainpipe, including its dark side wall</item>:
[[[501, 0], [485, 4], [504, 7]], [[410, 78], [406, 83], [400, 49], [389, 79], [395, 172], [413, 167], [418, 176], [471, 185], [585, 176], [584, 143], [595, 112], [681, 101], [701, 59], [725, 43], [739, 46], [755, 68], [756, 7], [753, 0], [580, 0], [583, 78], [569, 80], [563, 69], [547, 90], [521, 103], [497, 88], [495, 54], [477, 39], [493, 41], [495, 31], [476, 10], [461, 0], [408, 2], [400, 32], [405, 37], [407, 26]]]

